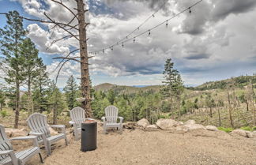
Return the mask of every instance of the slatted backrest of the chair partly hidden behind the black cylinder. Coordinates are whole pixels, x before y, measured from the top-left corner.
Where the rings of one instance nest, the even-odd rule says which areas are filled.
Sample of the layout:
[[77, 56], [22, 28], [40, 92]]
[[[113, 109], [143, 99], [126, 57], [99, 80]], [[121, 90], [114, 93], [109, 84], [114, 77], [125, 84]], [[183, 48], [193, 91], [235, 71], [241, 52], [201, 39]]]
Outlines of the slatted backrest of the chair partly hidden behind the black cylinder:
[[74, 107], [70, 111], [70, 118], [78, 127], [81, 127], [81, 123], [85, 121], [85, 110], [81, 107]]

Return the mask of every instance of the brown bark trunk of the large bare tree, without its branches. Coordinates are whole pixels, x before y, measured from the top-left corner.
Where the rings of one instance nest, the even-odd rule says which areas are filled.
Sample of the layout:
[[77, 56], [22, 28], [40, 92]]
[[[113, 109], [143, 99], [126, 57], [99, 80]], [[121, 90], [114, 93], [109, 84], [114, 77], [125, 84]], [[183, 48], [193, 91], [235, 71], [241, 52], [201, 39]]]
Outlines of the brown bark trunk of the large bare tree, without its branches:
[[80, 43], [80, 58], [81, 58], [81, 93], [85, 101], [82, 103], [82, 108], [85, 109], [85, 117], [91, 117], [91, 99], [90, 99], [90, 81], [88, 72], [88, 53], [86, 40], [86, 23], [85, 9], [83, 0], [77, 0], [78, 24], [79, 24], [79, 43]]

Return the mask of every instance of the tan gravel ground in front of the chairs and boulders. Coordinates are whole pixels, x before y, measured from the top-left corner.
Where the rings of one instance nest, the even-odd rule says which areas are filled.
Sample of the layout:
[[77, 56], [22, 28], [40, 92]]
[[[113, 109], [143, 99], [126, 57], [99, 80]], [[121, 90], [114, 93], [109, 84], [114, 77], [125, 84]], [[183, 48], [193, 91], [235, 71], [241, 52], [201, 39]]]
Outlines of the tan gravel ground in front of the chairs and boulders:
[[[233, 137], [222, 131], [195, 130], [190, 133], [143, 131], [124, 129], [122, 134], [102, 133], [98, 126], [97, 149], [81, 152], [80, 141], [69, 135], [69, 145], [64, 141], [55, 144], [45, 165], [84, 164], [255, 164], [256, 138]], [[28, 162], [40, 164], [38, 156]]]

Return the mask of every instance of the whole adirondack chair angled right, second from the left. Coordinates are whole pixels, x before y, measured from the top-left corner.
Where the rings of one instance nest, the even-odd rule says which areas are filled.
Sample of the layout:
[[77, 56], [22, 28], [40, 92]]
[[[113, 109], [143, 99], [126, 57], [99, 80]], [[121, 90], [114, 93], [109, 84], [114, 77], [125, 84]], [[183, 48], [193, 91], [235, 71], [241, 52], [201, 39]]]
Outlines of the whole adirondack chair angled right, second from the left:
[[65, 139], [66, 145], [68, 145], [65, 126], [51, 126], [52, 128], [62, 129], [62, 133], [51, 136], [49, 127], [47, 125], [46, 115], [39, 113], [31, 114], [28, 117], [27, 122], [28, 127], [31, 129], [29, 134], [38, 136], [38, 142], [39, 144], [44, 144], [48, 156], [51, 155], [51, 144], [55, 143], [56, 141]]

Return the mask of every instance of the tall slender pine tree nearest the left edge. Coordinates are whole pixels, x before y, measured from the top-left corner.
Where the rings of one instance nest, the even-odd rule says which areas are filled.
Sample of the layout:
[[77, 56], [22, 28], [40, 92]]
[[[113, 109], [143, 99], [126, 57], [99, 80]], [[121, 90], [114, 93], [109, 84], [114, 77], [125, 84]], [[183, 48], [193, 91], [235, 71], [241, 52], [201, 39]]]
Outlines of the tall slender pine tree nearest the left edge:
[[1, 51], [4, 56], [3, 64], [5, 64], [6, 77], [8, 84], [15, 84], [15, 124], [18, 127], [20, 113], [20, 86], [24, 81], [24, 56], [21, 55], [21, 43], [25, 38], [25, 30], [22, 24], [22, 18], [19, 17], [17, 11], [9, 12], [6, 15], [7, 24], [0, 28], [0, 44]]

